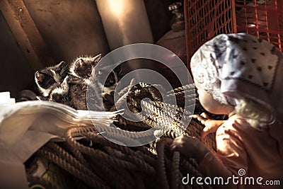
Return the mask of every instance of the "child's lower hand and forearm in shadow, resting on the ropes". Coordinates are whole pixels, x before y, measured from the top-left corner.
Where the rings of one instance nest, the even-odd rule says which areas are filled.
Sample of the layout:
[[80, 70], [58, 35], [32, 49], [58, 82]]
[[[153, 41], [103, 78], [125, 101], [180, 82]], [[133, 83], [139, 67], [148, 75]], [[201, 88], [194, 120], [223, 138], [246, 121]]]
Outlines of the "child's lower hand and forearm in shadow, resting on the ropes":
[[183, 156], [186, 156], [187, 158], [195, 158], [197, 162], [200, 162], [204, 155], [209, 151], [200, 140], [185, 135], [176, 137], [173, 140], [171, 143], [171, 150], [180, 151]]

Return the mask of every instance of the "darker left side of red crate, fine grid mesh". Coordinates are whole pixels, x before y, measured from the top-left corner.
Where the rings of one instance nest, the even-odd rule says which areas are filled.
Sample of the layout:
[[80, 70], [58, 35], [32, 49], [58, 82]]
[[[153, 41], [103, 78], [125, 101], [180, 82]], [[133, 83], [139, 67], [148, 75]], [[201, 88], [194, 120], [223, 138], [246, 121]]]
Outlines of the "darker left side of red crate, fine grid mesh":
[[187, 62], [195, 51], [207, 40], [220, 33], [233, 33], [235, 12], [231, 0], [185, 0], [185, 30]]

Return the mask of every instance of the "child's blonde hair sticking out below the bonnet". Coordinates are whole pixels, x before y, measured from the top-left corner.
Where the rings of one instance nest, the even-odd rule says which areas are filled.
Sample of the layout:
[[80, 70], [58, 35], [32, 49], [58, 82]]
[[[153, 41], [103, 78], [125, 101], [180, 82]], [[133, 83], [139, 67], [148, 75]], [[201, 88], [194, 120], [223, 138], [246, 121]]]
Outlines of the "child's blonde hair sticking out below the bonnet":
[[242, 98], [235, 106], [235, 113], [246, 118], [252, 127], [262, 130], [275, 122], [275, 113], [252, 99]]

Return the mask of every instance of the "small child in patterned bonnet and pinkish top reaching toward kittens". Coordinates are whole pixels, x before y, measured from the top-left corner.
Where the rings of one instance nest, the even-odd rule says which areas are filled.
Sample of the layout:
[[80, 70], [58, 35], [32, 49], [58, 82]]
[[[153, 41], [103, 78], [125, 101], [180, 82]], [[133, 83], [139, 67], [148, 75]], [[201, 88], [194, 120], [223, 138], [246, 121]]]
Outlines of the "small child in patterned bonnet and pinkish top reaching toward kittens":
[[[202, 45], [190, 63], [200, 103], [229, 119], [216, 122], [217, 129], [206, 116], [194, 116], [209, 127], [206, 132], [216, 130], [216, 155], [185, 136], [174, 139], [171, 149], [195, 158], [204, 177], [238, 177], [228, 188], [283, 188], [282, 61], [275, 46], [245, 33], [221, 34]], [[254, 185], [240, 177], [253, 177]], [[257, 183], [258, 177], [263, 180]], [[281, 185], [267, 185], [275, 180]]]

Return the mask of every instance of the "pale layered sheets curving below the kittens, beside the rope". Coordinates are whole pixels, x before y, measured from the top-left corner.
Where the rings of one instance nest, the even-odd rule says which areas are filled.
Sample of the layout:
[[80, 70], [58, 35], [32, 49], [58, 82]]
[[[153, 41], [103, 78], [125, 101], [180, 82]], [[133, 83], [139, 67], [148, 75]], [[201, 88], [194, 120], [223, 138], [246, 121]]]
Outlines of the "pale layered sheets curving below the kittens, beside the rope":
[[[1, 95], [10, 99], [8, 93]], [[0, 188], [28, 188], [23, 163], [50, 139], [62, 141], [70, 127], [108, 127], [117, 116], [48, 101], [8, 101], [0, 103]]]

